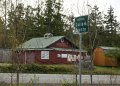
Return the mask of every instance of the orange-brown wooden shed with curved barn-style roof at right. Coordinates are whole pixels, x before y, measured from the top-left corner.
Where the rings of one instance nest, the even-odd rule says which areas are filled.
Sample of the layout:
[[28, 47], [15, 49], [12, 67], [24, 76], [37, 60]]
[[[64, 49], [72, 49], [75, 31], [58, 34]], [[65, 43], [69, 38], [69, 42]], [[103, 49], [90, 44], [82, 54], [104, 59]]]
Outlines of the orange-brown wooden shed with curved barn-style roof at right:
[[116, 48], [99, 46], [98, 48], [94, 49], [93, 62], [95, 66], [117, 66], [117, 61], [115, 59], [105, 56], [105, 53], [108, 53], [109, 49]]

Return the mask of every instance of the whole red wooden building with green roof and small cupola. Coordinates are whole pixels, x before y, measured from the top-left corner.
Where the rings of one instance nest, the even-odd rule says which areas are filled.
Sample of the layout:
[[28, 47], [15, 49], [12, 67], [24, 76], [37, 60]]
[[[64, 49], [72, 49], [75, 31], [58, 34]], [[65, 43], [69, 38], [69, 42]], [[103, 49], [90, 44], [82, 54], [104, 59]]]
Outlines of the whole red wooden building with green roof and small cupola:
[[[44, 37], [32, 38], [20, 46], [22, 64], [68, 64], [79, 60], [79, 47], [65, 36], [46, 33]], [[82, 51], [82, 60], [86, 54]]]

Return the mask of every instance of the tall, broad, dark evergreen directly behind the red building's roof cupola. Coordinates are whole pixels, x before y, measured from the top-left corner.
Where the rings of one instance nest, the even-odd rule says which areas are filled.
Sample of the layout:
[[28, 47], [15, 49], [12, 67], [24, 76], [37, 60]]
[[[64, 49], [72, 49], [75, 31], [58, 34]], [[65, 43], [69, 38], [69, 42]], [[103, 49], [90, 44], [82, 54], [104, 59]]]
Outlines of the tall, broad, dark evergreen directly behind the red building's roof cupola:
[[62, 1], [61, 0], [47, 0], [46, 1], [46, 9], [45, 9], [45, 21], [44, 21], [44, 29], [46, 32], [53, 33], [54, 35], [64, 35], [64, 28], [66, 24], [63, 20], [65, 15], [61, 14], [62, 9]]

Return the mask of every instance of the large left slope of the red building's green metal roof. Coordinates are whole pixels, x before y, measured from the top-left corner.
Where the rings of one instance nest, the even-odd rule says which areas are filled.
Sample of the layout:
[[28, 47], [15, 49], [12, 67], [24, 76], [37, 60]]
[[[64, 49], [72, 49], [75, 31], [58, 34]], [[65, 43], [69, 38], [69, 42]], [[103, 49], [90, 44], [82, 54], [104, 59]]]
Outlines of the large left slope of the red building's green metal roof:
[[59, 39], [62, 39], [65, 36], [53, 36], [49, 38], [39, 37], [39, 38], [32, 38], [27, 42], [20, 45], [20, 48], [46, 48], [49, 45], [55, 43]]

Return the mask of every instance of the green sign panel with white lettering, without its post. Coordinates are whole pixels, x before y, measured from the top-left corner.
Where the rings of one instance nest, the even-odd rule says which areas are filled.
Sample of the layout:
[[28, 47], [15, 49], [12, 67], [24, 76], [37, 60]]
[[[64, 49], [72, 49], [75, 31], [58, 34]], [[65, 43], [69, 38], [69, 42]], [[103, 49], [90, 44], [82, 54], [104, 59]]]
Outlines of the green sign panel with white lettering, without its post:
[[75, 18], [74, 34], [88, 32], [88, 15]]

